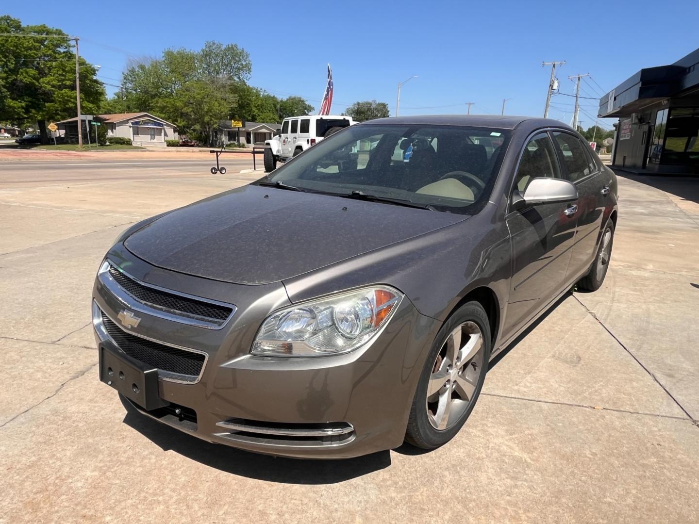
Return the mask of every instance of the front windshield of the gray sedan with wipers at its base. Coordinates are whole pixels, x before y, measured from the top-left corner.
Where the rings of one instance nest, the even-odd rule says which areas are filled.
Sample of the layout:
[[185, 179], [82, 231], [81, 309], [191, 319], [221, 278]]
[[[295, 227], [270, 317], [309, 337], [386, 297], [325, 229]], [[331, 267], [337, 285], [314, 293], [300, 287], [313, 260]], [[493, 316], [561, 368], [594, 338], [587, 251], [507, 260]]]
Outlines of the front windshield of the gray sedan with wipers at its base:
[[503, 129], [350, 126], [258, 183], [470, 214], [488, 201], [509, 138]]

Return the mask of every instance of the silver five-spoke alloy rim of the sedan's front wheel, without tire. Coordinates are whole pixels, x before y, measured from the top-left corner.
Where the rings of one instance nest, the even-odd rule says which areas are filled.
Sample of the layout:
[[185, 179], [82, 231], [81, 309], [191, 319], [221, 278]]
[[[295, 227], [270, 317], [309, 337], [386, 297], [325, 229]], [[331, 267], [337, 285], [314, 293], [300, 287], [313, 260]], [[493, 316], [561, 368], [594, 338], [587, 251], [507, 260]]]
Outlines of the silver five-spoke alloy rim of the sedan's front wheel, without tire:
[[433, 428], [449, 429], [473, 402], [484, 353], [483, 335], [475, 322], [461, 323], [449, 333], [427, 384], [427, 418]]

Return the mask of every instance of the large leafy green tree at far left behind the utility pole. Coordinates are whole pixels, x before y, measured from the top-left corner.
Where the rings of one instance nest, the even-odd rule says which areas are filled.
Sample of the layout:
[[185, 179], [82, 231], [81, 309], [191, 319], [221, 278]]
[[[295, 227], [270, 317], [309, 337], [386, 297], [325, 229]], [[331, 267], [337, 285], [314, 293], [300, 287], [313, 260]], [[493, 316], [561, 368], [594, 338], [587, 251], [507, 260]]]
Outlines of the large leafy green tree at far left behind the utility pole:
[[[75, 54], [69, 36], [46, 25], [23, 26], [0, 16], [0, 33], [40, 36], [0, 36], [0, 121], [29, 126], [38, 123], [46, 142], [47, 120], [75, 117]], [[41, 38], [51, 35], [61, 38]], [[105, 99], [96, 68], [80, 59], [80, 104], [94, 113]]]

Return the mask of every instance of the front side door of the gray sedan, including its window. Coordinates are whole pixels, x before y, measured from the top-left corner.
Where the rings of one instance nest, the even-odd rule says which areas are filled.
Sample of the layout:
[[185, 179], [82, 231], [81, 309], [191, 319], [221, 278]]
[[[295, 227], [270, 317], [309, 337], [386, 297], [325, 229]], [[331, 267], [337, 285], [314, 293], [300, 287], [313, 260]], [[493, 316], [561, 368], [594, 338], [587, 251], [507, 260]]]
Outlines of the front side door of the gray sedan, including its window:
[[[546, 132], [533, 136], [524, 147], [510, 198], [524, 194], [535, 177], [561, 178], [559, 159]], [[519, 331], [563, 289], [577, 224], [575, 204], [529, 205], [507, 213], [512, 279], [505, 333]]]

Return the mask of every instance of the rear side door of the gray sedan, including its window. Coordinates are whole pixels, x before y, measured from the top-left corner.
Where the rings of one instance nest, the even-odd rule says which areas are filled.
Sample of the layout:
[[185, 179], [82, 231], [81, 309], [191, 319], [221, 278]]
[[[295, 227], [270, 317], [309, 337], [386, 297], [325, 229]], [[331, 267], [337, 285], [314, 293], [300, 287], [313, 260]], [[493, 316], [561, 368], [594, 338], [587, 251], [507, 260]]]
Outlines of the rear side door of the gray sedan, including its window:
[[592, 263], [605, 210], [604, 177], [589, 144], [568, 131], [554, 131], [554, 144], [561, 157], [563, 177], [577, 187], [577, 226], [566, 279], [584, 273]]

